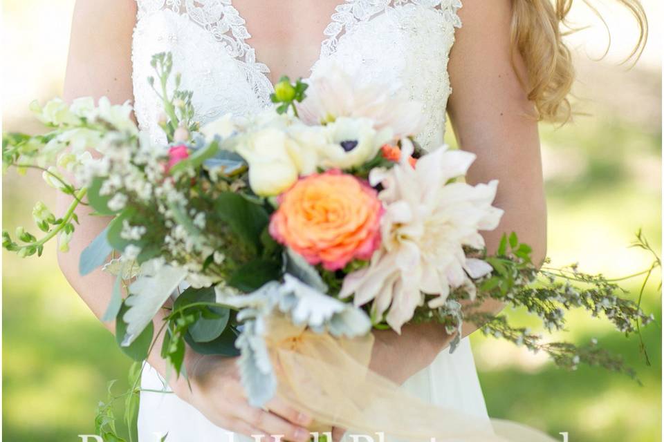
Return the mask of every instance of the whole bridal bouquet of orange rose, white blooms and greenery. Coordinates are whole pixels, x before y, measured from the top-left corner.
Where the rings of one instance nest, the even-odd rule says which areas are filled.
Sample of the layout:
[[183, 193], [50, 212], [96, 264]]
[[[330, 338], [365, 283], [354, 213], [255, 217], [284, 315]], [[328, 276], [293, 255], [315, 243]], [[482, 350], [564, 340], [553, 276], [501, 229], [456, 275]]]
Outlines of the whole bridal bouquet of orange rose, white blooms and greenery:
[[[44, 135], [3, 135], [5, 168], [41, 169], [72, 197], [59, 216], [37, 203], [41, 238], [3, 231], [3, 247], [40, 255], [57, 237], [66, 251], [77, 206], [109, 217], [80, 272], [116, 275], [104, 320], [116, 320], [118, 343], [136, 361], [153, 351], [156, 333], [178, 375], [185, 343], [240, 355], [252, 405], [278, 393], [335, 425], [348, 424], [338, 421], [339, 396], [367, 392], [348, 376], [367, 367], [372, 328], [398, 333], [434, 321], [455, 336], [454, 351], [461, 325], [474, 323], [562, 367], [589, 363], [634, 376], [594, 342], [544, 340], [479, 308], [489, 299], [526, 307], [550, 332], [564, 329], [565, 311], [576, 307], [625, 334], [652, 320], [615, 282], [575, 267], [538, 268], [515, 234], [488, 253], [481, 231], [499, 224], [498, 183], [463, 181], [471, 153], [423, 151], [414, 138], [417, 103], [360, 86], [331, 65], [308, 83], [282, 78], [275, 106], [259, 115], [201, 127], [171, 55], [152, 65], [163, 142], [138, 130], [128, 104], [88, 98], [35, 105]], [[641, 237], [638, 244], [650, 250]], [[168, 314], [155, 331], [160, 309]], [[389, 396], [376, 377], [372, 388]], [[297, 390], [303, 378], [309, 393]]]

